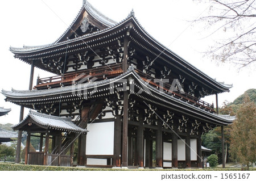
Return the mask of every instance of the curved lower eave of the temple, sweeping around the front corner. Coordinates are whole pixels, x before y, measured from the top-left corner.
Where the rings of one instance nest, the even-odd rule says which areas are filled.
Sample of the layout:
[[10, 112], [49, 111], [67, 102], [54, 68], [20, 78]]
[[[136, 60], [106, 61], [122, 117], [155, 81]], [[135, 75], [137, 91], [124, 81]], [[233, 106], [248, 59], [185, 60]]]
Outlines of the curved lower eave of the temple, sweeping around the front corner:
[[[168, 104], [169, 106], [167, 108], [171, 108], [174, 111], [185, 113], [191, 116], [200, 115], [199, 119], [210, 120], [212, 121], [212, 123], [217, 125], [232, 124], [233, 120], [235, 119], [235, 117], [229, 117], [229, 116], [225, 117], [221, 115], [216, 115], [214, 113], [210, 113], [208, 111], [202, 110], [199, 107], [195, 107], [187, 102], [183, 102], [182, 100], [179, 100], [174, 96], [166, 94], [158, 89], [155, 89], [154, 87], [144, 82], [142, 78], [139, 77], [139, 75], [131, 67], [126, 73], [119, 75], [116, 78], [108, 79], [105, 81], [93, 82], [93, 83], [84, 83], [79, 87], [79, 89], [77, 89], [78, 87], [76, 86], [67, 86], [67, 87], [60, 87], [60, 88], [49, 89], [49, 90], [34, 90], [34, 91], [19, 91], [19, 92], [2, 91], [2, 94], [5, 95], [7, 98], [12, 98], [12, 99], [24, 99], [29, 97], [40, 99], [43, 97], [43, 99], [46, 99], [46, 101], [48, 101], [48, 99], [51, 100], [51, 98], [47, 98], [47, 96], [59, 95], [59, 94], [64, 96], [65, 93], [71, 93], [74, 91], [79, 92], [79, 90], [84, 90], [84, 89], [93, 89], [93, 90], [96, 89], [97, 91], [102, 91], [101, 90], [103, 89], [102, 87], [109, 86], [110, 83], [118, 82], [120, 79], [127, 79], [130, 76], [135, 78], [139, 82], [139, 85], [148, 87], [148, 89], [151, 92], [153, 92], [153, 94], [148, 94], [146, 92], [148, 96], [152, 96], [153, 98], [158, 99], [160, 102], [163, 102], [164, 105]], [[148, 99], [148, 101], [152, 101], [152, 100]]]

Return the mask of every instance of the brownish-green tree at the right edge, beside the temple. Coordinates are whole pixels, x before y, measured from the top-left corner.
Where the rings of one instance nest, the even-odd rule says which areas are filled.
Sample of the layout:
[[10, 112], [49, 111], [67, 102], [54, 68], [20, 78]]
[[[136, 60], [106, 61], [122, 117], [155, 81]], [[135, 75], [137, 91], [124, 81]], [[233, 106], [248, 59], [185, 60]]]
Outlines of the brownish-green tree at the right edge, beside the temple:
[[245, 95], [237, 119], [232, 125], [230, 153], [233, 159], [247, 165], [256, 161], [256, 106]]

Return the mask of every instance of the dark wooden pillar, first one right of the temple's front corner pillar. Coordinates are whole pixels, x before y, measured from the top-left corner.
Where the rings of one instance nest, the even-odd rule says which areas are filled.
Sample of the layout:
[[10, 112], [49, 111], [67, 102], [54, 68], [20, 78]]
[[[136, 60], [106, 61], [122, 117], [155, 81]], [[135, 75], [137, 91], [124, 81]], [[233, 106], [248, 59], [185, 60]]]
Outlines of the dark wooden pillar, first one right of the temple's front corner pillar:
[[137, 166], [144, 167], [143, 120], [139, 120], [137, 127]]

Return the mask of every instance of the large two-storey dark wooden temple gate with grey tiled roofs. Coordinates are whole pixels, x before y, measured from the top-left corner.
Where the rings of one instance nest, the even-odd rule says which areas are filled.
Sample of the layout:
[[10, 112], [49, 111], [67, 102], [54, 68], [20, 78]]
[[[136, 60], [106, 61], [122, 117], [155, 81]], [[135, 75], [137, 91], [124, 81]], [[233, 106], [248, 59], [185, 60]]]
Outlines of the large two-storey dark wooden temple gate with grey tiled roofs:
[[[2, 90], [21, 107], [14, 129], [52, 140], [39, 153], [27, 148], [27, 164], [72, 165], [77, 138], [79, 166], [202, 167], [201, 135], [234, 120], [201, 100], [231, 86], [164, 47], [133, 11], [118, 23], [84, 1], [54, 43], [10, 51], [31, 65], [30, 90]], [[56, 75], [33, 87], [35, 67]], [[35, 110], [26, 119], [24, 107]]]

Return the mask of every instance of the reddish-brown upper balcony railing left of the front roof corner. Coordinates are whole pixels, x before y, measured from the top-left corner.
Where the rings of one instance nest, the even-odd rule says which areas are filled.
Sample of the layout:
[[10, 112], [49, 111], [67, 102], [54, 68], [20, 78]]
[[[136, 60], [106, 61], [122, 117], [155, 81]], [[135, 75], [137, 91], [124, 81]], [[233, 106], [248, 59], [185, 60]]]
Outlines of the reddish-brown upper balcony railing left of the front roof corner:
[[[99, 68], [76, 71], [75, 73], [67, 73], [64, 75], [56, 75], [46, 78], [38, 78], [34, 89], [49, 89], [60, 86], [67, 86], [75, 84], [76, 82], [84, 79], [89, 75], [89, 79], [92, 77], [97, 78], [97, 81], [106, 78], [116, 77], [123, 73], [122, 64], [115, 64], [109, 66], [101, 66]], [[86, 82], [86, 80], [84, 80]], [[83, 82], [83, 83], [85, 83]]]

